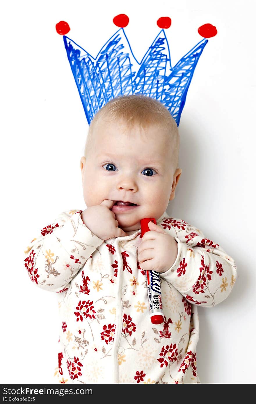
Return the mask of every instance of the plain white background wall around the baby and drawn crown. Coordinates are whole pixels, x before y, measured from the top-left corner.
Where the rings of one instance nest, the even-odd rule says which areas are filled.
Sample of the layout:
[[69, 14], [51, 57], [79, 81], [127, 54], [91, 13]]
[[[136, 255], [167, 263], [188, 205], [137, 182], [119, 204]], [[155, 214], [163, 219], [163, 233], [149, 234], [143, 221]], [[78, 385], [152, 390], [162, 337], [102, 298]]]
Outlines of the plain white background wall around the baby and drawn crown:
[[171, 63], [212, 23], [180, 121], [182, 177], [167, 212], [233, 257], [238, 278], [214, 308], [199, 307], [201, 383], [255, 383], [255, 6], [253, 1], [5, 2], [1, 11], [1, 383], [54, 383], [57, 298], [37, 288], [23, 251], [63, 210], [85, 209], [80, 157], [87, 120], [55, 24], [96, 56], [118, 29], [140, 61], [166, 29]]

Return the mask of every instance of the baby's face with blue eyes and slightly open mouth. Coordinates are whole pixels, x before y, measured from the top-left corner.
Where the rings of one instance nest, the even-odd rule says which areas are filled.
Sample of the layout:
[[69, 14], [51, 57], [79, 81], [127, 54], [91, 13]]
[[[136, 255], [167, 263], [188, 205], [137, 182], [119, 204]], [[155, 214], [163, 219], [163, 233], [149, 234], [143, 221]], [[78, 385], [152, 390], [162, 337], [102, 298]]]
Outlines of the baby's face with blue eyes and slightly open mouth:
[[111, 210], [125, 232], [140, 229], [145, 217], [159, 219], [174, 197], [177, 170], [171, 158], [167, 135], [157, 126], [140, 133], [121, 121], [97, 123], [87, 157], [81, 159], [85, 204], [117, 202]]

